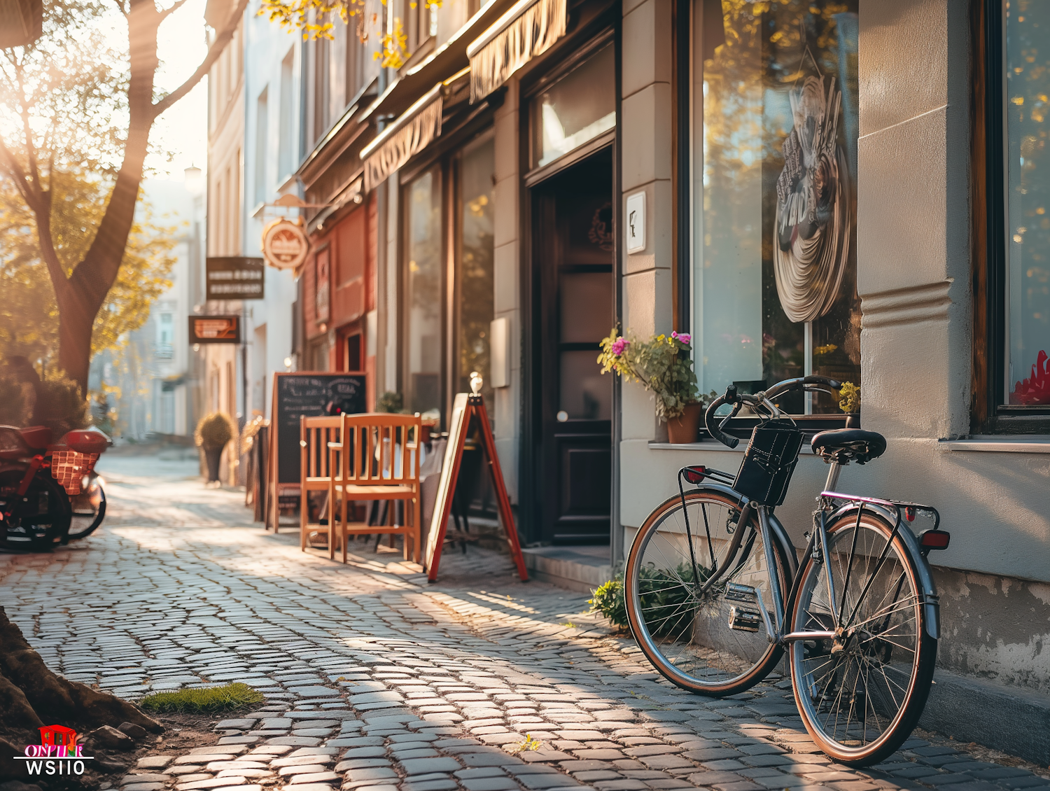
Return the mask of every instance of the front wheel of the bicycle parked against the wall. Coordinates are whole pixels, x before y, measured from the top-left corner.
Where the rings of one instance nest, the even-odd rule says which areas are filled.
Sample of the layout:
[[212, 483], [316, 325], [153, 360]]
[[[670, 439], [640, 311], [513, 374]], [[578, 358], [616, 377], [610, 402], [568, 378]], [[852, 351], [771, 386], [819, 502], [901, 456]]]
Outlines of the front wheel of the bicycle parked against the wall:
[[[628, 555], [624, 599], [634, 639], [666, 679], [692, 692], [742, 692], [783, 653], [770, 642], [758, 608], [761, 597], [773, 618], [758, 517], [739, 525], [739, 501], [731, 495], [689, 492], [685, 508], [674, 497], [649, 515]], [[771, 548], [773, 570], [786, 591], [786, 558], [777, 542]]]

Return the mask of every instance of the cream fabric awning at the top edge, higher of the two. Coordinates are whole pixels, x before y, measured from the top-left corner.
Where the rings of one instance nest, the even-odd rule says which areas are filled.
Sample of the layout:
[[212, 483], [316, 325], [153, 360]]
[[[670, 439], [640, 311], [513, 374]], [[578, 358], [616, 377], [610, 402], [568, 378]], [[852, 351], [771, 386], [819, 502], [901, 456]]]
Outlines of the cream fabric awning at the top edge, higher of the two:
[[491, 93], [565, 35], [568, 0], [522, 0], [467, 47], [470, 102]]

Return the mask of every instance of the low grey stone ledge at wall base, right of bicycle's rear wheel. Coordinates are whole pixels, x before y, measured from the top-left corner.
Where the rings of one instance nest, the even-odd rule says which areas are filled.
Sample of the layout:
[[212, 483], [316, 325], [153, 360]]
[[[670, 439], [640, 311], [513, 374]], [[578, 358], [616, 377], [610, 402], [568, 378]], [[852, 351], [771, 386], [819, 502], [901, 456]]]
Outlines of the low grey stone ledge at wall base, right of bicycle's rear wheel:
[[938, 668], [919, 727], [1050, 764], [1050, 695]]

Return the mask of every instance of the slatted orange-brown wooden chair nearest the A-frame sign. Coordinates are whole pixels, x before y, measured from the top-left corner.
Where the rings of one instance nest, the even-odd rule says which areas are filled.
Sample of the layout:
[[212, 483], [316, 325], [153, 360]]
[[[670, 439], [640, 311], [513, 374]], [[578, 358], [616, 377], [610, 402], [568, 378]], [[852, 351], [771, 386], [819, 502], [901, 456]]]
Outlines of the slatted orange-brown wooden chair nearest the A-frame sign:
[[[404, 558], [408, 559], [412, 541], [413, 560], [420, 555], [420, 437], [419, 416], [390, 413], [342, 415], [337, 441], [329, 442], [329, 524], [336, 521], [342, 543], [342, 562], [346, 562], [346, 539], [353, 535], [396, 534], [404, 537]], [[348, 522], [348, 505], [362, 500], [404, 502], [404, 524], [395, 524], [397, 508], [386, 508], [386, 524]], [[335, 558], [335, 545], [329, 541], [329, 557]]]

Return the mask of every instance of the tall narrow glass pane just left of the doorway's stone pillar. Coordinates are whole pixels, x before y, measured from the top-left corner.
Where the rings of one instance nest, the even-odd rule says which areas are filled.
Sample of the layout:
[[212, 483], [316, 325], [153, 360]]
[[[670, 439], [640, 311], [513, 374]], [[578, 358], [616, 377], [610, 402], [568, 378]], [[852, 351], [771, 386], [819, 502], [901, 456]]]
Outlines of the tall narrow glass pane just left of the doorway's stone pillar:
[[496, 149], [492, 138], [466, 150], [460, 159], [459, 298], [457, 393], [470, 392], [470, 372], [484, 379], [482, 393], [491, 403], [489, 326], [492, 312], [492, 197]]

